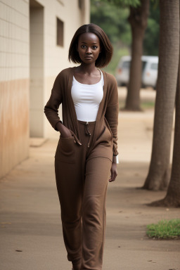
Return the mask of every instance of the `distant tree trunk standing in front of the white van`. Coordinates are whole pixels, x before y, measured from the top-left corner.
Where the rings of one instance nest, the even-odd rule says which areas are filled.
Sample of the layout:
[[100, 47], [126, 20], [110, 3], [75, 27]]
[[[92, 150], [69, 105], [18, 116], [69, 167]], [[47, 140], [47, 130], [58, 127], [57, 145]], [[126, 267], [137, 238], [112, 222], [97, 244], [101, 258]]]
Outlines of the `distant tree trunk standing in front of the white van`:
[[147, 26], [149, 0], [141, 0], [138, 8], [130, 7], [129, 23], [131, 25], [131, 67], [129, 85], [124, 110], [141, 110], [140, 89], [142, 77], [141, 56], [143, 53], [143, 37]]

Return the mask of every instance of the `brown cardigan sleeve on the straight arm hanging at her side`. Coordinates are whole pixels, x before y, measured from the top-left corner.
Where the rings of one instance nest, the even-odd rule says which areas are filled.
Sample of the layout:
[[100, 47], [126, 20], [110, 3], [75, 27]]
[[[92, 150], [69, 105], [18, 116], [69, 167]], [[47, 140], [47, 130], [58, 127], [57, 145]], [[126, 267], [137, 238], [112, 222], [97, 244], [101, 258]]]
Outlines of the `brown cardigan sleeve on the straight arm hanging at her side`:
[[113, 133], [113, 155], [118, 155], [117, 152], [117, 125], [118, 125], [118, 115], [119, 115], [119, 101], [118, 101], [118, 91], [117, 82], [113, 75], [109, 75], [108, 79], [109, 96], [108, 105], [105, 111], [105, 118], [108, 121], [110, 129]]

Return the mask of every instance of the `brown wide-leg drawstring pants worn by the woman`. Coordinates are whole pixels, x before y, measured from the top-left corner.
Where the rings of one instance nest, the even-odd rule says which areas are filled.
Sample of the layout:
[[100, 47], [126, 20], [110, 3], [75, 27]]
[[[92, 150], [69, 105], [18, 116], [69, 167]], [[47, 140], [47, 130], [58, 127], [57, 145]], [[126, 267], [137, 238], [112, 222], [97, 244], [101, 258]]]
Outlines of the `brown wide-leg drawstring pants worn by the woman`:
[[89, 153], [95, 122], [78, 123], [82, 146], [73, 136], [60, 137], [55, 156], [63, 237], [74, 270], [101, 270], [105, 198], [112, 164], [101, 153], [110, 144], [99, 138], [93, 153]]

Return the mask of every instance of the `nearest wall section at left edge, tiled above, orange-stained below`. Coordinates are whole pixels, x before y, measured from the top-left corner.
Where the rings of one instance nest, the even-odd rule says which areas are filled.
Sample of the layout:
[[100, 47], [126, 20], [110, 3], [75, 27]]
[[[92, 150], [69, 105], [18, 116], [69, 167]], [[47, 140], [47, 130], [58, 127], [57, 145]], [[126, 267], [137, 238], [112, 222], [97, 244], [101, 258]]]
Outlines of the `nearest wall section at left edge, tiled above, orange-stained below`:
[[0, 1], [0, 177], [29, 153], [29, 3]]

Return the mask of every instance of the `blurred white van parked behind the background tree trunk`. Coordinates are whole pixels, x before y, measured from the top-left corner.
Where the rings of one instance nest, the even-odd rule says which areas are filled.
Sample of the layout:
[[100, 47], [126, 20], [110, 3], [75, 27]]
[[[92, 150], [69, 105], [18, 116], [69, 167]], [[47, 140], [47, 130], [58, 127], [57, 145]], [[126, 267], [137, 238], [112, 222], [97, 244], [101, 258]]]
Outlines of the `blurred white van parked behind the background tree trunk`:
[[[152, 86], [155, 89], [158, 77], [158, 56], [141, 56], [142, 60], [142, 85]], [[129, 68], [131, 56], [122, 56], [117, 65], [115, 77], [117, 84], [127, 85], [129, 82]]]

